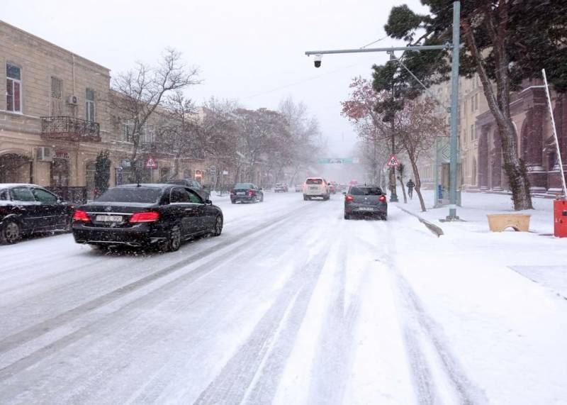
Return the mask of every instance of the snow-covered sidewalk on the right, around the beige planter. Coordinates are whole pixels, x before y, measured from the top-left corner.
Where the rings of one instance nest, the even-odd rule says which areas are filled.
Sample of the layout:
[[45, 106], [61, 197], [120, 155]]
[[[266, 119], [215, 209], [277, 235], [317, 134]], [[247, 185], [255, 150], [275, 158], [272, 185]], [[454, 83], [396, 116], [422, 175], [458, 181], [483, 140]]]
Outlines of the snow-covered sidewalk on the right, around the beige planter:
[[[400, 194], [398, 193], [398, 196]], [[442, 228], [443, 238], [456, 245], [476, 247], [487, 260], [493, 258], [542, 286], [567, 297], [567, 238], [554, 238], [553, 200], [534, 198], [533, 210], [514, 211], [509, 195], [466, 193], [461, 194], [462, 206], [457, 215], [464, 222], [439, 221], [449, 213], [448, 207], [432, 208], [432, 190], [423, 192], [427, 212], [422, 212], [414, 193], [408, 204], [403, 196], [397, 205]], [[487, 214], [527, 213], [531, 215], [529, 233], [507, 229], [502, 233], [490, 232]]]

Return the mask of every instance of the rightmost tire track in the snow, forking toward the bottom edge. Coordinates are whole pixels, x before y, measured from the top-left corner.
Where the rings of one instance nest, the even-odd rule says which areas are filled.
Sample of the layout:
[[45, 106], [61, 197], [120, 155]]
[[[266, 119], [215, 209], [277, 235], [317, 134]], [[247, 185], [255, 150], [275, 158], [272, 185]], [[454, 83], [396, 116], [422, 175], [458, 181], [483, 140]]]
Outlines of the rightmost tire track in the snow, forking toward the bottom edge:
[[395, 242], [395, 230], [388, 223], [388, 238], [386, 244], [386, 263], [388, 272], [392, 277], [392, 288], [395, 296], [398, 296], [402, 309], [400, 318], [403, 326], [403, 337], [405, 340], [406, 353], [410, 362], [410, 371], [415, 382], [417, 402], [420, 404], [439, 404], [442, 399], [439, 396], [438, 387], [435, 384], [432, 365], [423, 352], [420, 337], [427, 340], [434, 353], [440, 360], [445, 379], [449, 382], [454, 392], [459, 397], [459, 404], [485, 404], [488, 400], [484, 392], [476, 387], [468, 378], [461, 364], [451, 353], [450, 345], [444, 338], [442, 326], [438, 325], [426, 313], [417, 294], [408, 281], [399, 272], [395, 257], [398, 254]]

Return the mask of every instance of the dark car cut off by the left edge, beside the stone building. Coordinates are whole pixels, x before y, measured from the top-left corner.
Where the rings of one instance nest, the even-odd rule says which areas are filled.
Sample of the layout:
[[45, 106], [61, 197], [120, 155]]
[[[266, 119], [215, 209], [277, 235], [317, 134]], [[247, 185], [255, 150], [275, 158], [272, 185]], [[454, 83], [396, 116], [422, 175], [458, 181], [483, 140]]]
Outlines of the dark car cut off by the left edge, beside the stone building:
[[23, 235], [69, 231], [72, 204], [35, 184], [0, 183], [0, 243]]

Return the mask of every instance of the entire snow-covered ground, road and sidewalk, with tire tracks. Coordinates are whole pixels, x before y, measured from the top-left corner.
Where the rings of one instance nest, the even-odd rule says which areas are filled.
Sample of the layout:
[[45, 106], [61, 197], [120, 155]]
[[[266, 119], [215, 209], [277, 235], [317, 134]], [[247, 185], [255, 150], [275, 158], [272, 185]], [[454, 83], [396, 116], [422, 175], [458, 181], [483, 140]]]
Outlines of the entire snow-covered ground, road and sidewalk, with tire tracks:
[[567, 402], [567, 300], [516, 271], [566, 265], [543, 222], [437, 238], [394, 204], [383, 222], [344, 221], [339, 195], [214, 201], [223, 235], [176, 253], [1, 246], [0, 402]]

